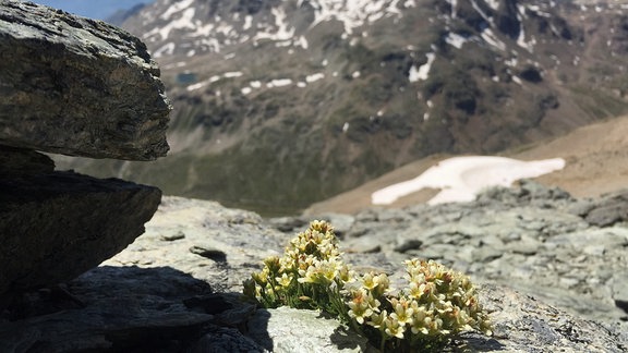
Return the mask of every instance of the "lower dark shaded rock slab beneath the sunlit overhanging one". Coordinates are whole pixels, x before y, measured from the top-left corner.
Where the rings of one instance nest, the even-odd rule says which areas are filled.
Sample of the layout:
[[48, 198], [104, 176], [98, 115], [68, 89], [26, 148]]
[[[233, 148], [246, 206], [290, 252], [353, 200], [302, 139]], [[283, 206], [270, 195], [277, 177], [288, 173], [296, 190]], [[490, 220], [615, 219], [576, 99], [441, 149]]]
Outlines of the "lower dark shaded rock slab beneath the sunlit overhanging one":
[[0, 175], [0, 297], [57, 284], [144, 233], [161, 192], [73, 172]]

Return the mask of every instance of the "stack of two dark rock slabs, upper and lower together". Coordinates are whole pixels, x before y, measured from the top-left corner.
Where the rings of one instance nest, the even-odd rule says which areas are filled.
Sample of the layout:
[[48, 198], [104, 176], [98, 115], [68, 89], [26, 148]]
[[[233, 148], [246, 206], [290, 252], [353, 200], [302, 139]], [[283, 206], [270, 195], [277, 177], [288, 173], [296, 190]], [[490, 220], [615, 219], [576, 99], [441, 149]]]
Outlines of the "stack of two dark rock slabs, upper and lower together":
[[144, 232], [158, 188], [55, 171], [38, 150], [164, 156], [169, 104], [158, 75], [144, 45], [120, 29], [0, 0], [0, 309], [76, 278]]

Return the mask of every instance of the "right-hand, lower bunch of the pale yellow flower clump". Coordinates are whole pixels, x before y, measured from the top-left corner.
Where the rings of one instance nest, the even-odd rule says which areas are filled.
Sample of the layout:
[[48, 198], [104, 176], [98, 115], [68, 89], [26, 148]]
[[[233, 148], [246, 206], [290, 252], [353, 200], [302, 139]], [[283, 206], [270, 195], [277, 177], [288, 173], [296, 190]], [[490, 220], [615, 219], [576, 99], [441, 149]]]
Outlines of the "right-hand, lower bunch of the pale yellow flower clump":
[[366, 273], [362, 285], [350, 291], [349, 316], [378, 330], [382, 346], [411, 350], [473, 329], [492, 334], [467, 276], [433, 260], [414, 258], [406, 266], [408, 287], [398, 295], [388, 294], [386, 275]]

